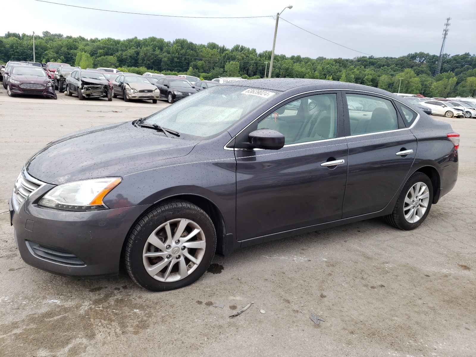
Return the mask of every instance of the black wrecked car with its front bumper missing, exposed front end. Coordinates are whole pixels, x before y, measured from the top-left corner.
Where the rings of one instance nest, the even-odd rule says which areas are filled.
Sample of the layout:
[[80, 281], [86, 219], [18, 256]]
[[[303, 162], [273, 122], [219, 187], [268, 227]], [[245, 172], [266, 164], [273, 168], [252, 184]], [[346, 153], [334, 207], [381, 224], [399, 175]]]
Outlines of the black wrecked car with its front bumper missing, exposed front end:
[[79, 100], [85, 98], [107, 98], [112, 100], [109, 81], [99, 71], [76, 69], [66, 79], [66, 95], [76, 94]]

